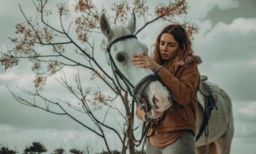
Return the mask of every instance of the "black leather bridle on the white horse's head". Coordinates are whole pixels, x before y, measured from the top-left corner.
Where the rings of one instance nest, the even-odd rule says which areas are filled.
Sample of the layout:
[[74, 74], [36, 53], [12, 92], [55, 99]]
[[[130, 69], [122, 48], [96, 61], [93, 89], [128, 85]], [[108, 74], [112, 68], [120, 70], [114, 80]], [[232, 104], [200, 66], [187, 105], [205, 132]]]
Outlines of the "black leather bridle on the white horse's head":
[[[156, 74], [147, 75], [146, 77], [141, 79], [138, 82], [138, 84], [136, 84], [136, 86], [131, 84], [129, 79], [127, 79], [127, 77], [125, 77], [125, 75], [123, 75], [122, 72], [119, 70], [119, 68], [116, 66], [116, 63], [115, 63], [115, 61], [113, 61], [113, 57], [111, 56], [111, 53], [110, 53], [111, 46], [113, 46], [113, 44], [116, 44], [116, 42], [122, 41], [124, 39], [137, 39], [137, 37], [135, 35], [125, 35], [125, 36], [122, 36], [122, 37], [118, 37], [117, 39], [114, 39], [113, 41], [111, 41], [109, 46], [107, 46], [109, 61], [110, 61], [110, 64], [111, 64], [111, 68], [114, 72], [113, 74], [116, 77], [116, 81], [118, 82], [118, 86], [120, 86], [120, 88], [122, 90], [124, 90], [125, 92], [128, 92], [129, 95], [132, 97], [132, 103], [131, 103], [132, 121], [134, 121], [134, 102], [136, 102], [136, 104], [138, 106], [140, 106], [140, 108], [142, 110], [144, 110], [146, 118], [153, 121], [153, 118], [150, 114], [151, 113], [151, 108], [157, 109], [158, 106], [156, 106], [156, 104], [154, 104], [154, 102], [153, 103], [151, 103], [150, 101], [147, 102], [147, 99], [144, 99], [143, 97], [144, 97], [145, 89], [147, 88], [147, 86], [149, 86], [149, 84], [151, 84], [152, 81], [158, 81], [159, 80], [158, 76]], [[122, 80], [122, 82], [125, 84], [125, 86], [127, 87], [127, 90], [122, 88], [117, 75]], [[139, 90], [141, 91], [140, 93], [138, 93]], [[138, 95], [140, 95], [141, 97], [138, 98]], [[143, 102], [141, 102], [141, 99], [143, 99]], [[134, 137], [134, 142], [137, 142], [136, 146], [139, 146], [141, 144], [141, 142], [143, 142], [143, 138], [145, 137], [148, 129], [149, 129], [149, 124], [147, 124], [147, 126], [145, 126], [145, 124], [143, 124], [143, 132], [142, 132], [142, 136], [140, 137], [140, 139], [137, 140]]]

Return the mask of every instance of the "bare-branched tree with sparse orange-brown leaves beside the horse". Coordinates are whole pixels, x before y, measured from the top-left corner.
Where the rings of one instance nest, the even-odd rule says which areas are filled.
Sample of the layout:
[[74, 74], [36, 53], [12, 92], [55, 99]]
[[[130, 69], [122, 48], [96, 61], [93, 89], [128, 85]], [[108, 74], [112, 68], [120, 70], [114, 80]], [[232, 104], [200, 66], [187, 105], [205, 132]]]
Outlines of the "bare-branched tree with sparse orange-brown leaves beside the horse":
[[[77, 0], [75, 5], [71, 5], [71, 1], [60, 1], [60, 3], [57, 3], [56, 9], [59, 18], [55, 19], [56, 23], [57, 20], [59, 21], [60, 26], [51, 24], [48, 21], [49, 17], [54, 14], [53, 10], [48, 8], [53, 3], [52, 1], [32, 0], [32, 3], [34, 3], [37, 9], [34, 17], [28, 17], [26, 12], [19, 6], [25, 21], [23, 23], [17, 23], [17, 37], [10, 38], [14, 47], [8, 49], [6, 52], [2, 52], [0, 59], [3, 70], [8, 70], [13, 66], [19, 65], [21, 59], [27, 59], [33, 64], [32, 69], [36, 76], [34, 79], [35, 90], [19, 88], [19, 90], [31, 96], [33, 100], [20, 97], [9, 89], [13, 97], [21, 104], [41, 108], [56, 115], [67, 115], [71, 117], [71, 119], [84, 126], [84, 128], [101, 137], [108, 153], [111, 152], [111, 149], [109, 148], [109, 143], [105, 135], [104, 130], [106, 129], [118, 136], [122, 143], [121, 153], [126, 153], [127, 149], [129, 149], [129, 153], [135, 153], [134, 140], [131, 135], [133, 128], [130, 113], [130, 98], [127, 93], [123, 93], [118, 88], [112, 77], [103, 68], [104, 64], [98, 61], [98, 55], [95, 56], [95, 43], [100, 44], [103, 51], [97, 54], [103, 56], [105, 54], [104, 49], [107, 46], [104, 39], [98, 42], [94, 41], [94, 36], [100, 33], [99, 17], [102, 12], [107, 12], [110, 15], [109, 21], [111, 23], [120, 24], [125, 23], [129, 15], [131, 15], [132, 10], [134, 10], [138, 18], [143, 21], [143, 24], [138, 26], [139, 28], [135, 32], [135, 35], [137, 35], [149, 26], [149, 24], [156, 21], [178, 23], [175, 17], [180, 15], [184, 15], [185, 17], [187, 14], [188, 5], [185, 0], [158, 4], [153, 11], [149, 10], [146, 0], [134, 0], [132, 3], [127, 1], [114, 2], [110, 10], [106, 8], [99, 10], [91, 0]], [[194, 24], [187, 21], [183, 21], [181, 24], [185, 26], [190, 35], [197, 32]], [[52, 50], [45, 50], [44, 47], [51, 47]], [[42, 94], [42, 91], [46, 87], [48, 77], [53, 77], [66, 67], [80, 70], [74, 75], [75, 84], [73, 84], [73, 81], [66, 79], [65, 73], [57, 80], [66, 88], [67, 93], [71, 93], [77, 99], [78, 103], [75, 105], [61, 98], [55, 101]], [[95, 90], [91, 89], [91, 87], [85, 87], [82, 84], [79, 73], [81, 70], [91, 73], [91, 79], [98, 77], [113, 92], [113, 95], [105, 95], [100, 89]], [[87, 79], [87, 81], [89, 80]], [[111, 103], [116, 98], [121, 99], [125, 108], [125, 114], [121, 113]], [[66, 105], [77, 112], [87, 115], [91, 119], [91, 122], [93, 122], [95, 128], [74, 117], [64, 107]], [[100, 119], [93, 111], [95, 108], [102, 108], [102, 106], [109, 109], [105, 111], [104, 118]], [[58, 110], [55, 110], [55, 108], [58, 108]], [[120, 124], [120, 130], [113, 128], [105, 122], [109, 110], [116, 110], [123, 117], [124, 124]]]

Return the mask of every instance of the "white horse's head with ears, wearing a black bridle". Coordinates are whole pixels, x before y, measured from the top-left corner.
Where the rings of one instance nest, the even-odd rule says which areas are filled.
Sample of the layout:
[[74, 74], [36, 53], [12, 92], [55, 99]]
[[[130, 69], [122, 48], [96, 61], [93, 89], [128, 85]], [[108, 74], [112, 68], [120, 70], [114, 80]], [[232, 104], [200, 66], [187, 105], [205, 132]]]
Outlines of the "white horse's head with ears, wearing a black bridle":
[[103, 14], [100, 17], [100, 28], [109, 41], [107, 52], [113, 70], [113, 79], [123, 90], [127, 86], [135, 90], [136, 96], [143, 97], [148, 104], [158, 112], [163, 112], [172, 106], [170, 93], [161, 84], [152, 70], [139, 68], [131, 63], [134, 54], [147, 52], [147, 46], [133, 35], [136, 30], [135, 15], [131, 16], [127, 26], [111, 28]]

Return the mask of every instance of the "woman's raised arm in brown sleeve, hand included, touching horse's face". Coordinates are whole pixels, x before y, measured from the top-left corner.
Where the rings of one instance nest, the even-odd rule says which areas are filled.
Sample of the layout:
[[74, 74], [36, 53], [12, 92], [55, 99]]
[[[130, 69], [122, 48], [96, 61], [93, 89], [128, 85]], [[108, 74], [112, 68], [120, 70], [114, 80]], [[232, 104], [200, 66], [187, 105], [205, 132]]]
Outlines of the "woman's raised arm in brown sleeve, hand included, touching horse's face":
[[[161, 79], [163, 86], [166, 86], [177, 103], [181, 105], [189, 104], [196, 93], [196, 87], [199, 84], [199, 70], [197, 64], [190, 64], [183, 69], [179, 79], [169, 70], [159, 66], [156, 61], [147, 55], [134, 55], [131, 59], [134, 65], [141, 68], [153, 70]], [[185, 67], [185, 66], [181, 66]], [[156, 71], [157, 70], [157, 71]]]

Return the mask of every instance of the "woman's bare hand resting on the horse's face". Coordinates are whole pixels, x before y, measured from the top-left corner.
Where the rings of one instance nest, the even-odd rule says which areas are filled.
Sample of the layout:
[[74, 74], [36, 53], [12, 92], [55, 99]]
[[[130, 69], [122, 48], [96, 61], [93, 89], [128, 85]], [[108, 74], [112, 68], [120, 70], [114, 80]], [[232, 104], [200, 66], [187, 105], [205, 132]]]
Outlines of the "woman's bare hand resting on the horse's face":
[[153, 59], [149, 58], [144, 52], [142, 55], [134, 55], [131, 59], [132, 63], [140, 68], [149, 68], [156, 73], [161, 66], [156, 63]]

